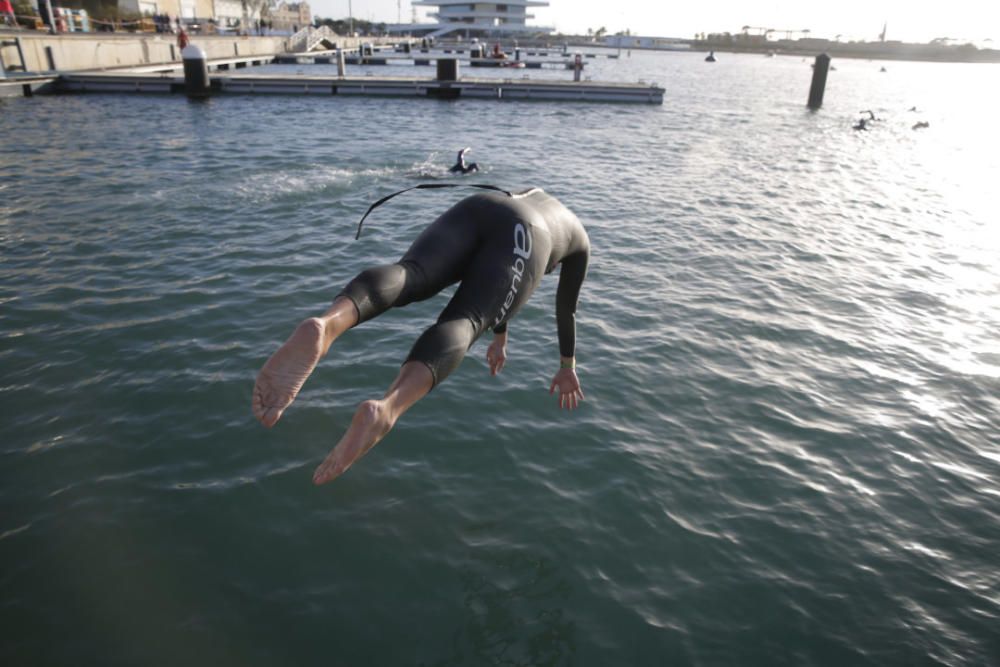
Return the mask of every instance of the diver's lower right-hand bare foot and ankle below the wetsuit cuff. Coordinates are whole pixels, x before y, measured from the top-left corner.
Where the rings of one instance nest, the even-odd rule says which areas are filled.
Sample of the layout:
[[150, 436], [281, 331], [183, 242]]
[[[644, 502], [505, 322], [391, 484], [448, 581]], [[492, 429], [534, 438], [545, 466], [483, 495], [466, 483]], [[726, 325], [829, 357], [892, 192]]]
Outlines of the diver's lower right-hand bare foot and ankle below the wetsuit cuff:
[[403, 364], [385, 396], [358, 406], [347, 432], [313, 473], [313, 483], [325, 484], [343, 474], [384, 438], [396, 420], [426, 396], [433, 385], [433, 376], [425, 364], [419, 361]]

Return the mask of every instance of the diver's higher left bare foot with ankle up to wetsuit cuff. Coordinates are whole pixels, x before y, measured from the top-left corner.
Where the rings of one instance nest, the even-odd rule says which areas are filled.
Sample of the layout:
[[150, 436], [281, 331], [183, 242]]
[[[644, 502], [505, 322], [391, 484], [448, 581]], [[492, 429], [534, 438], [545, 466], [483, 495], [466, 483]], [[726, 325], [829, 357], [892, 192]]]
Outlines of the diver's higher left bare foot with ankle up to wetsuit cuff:
[[341, 296], [325, 313], [299, 324], [257, 374], [253, 414], [261, 424], [271, 428], [281, 419], [333, 341], [357, 322], [354, 303]]

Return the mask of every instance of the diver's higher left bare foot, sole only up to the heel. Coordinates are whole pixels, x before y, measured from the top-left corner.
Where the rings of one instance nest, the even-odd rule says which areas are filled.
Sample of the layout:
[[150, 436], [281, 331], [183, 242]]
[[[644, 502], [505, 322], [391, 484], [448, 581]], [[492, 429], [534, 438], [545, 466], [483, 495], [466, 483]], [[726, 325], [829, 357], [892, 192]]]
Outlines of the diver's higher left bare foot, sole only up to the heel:
[[253, 388], [253, 414], [271, 428], [292, 404], [306, 379], [316, 368], [328, 345], [324, 345], [323, 321], [304, 320], [295, 332], [271, 355], [257, 374]]

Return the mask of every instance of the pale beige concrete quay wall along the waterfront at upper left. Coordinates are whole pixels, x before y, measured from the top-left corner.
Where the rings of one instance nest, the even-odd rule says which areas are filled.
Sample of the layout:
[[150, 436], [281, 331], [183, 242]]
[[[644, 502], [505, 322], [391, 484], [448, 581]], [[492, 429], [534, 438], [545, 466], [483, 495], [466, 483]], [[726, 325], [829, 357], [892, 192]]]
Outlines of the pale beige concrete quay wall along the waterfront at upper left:
[[[175, 35], [88, 33], [49, 35], [34, 32], [3, 33], [0, 62], [8, 73], [72, 72], [80, 70], [138, 67], [179, 62], [181, 50]], [[389, 43], [378, 37], [338, 37], [341, 48], [357, 48], [362, 42]], [[16, 44], [15, 42], [19, 42]], [[210, 59], [264, 56], [288, 52], [285, 36], [192, 36]], [[23, 60], [22, 60], [23, 59]]]

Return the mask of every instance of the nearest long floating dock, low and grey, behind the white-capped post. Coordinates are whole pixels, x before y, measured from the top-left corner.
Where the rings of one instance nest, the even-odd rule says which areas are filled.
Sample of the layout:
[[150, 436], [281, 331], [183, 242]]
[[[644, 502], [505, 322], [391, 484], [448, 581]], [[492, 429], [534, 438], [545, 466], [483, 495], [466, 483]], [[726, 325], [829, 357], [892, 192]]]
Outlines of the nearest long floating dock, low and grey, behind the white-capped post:
[[[173, 74], [131, 72], [72, 72], [55, 82], [69, 93], [184, 93], [184, 78]], [[544, 81], [530, 79], [472, 79], [455, 81], [411, 77], [339, 77], [232, 75], [211, 77], [212, 94], [236, 95], [346, 95], [369, 97], [426, 97], [454, 100], [559, 100], [663, 104], [664, 90], [647, 83]]]

